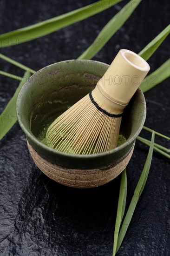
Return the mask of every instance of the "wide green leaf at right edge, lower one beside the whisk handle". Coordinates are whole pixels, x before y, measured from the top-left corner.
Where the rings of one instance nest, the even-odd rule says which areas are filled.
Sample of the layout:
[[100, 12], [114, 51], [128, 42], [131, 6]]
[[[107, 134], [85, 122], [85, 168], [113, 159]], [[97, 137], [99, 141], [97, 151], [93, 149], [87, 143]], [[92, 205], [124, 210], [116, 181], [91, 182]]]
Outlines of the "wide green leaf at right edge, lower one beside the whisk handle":
[[140, 88], [145, 93], [157, 84], [170, 77], [170, 59], [157, 68], [153, 73], [148, 75], [141, 83]]

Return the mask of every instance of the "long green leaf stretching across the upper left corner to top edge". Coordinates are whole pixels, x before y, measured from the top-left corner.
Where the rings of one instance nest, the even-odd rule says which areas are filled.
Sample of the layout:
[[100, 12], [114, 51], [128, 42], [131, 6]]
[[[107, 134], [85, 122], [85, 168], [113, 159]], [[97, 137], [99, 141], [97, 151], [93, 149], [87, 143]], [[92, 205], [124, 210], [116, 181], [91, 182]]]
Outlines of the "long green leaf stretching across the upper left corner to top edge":
[[44, 20], [34, 25], [2, 34], [0, 36], [0, 47], [24, 43], [46, 34], [50, 34], [60, 28], [67, 27], [75, 22], [84, 20], [96, 13], [102, 12], [120, 1], [121, 0], [100, 0], [91, 5], [59, 15], [52, 19]]

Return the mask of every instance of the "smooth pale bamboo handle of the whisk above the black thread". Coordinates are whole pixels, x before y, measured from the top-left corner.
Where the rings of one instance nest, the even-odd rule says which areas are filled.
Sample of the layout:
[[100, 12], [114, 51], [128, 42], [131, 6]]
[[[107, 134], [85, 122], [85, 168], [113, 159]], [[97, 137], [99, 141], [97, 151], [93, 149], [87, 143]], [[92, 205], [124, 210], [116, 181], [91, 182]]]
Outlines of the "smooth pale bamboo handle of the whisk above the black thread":
[[149, 70], [150, 66], [143, 58], [121, 49], [95, 90], [100, 91], [108, 102], [117, 104], [117, 108], [124, 109]]

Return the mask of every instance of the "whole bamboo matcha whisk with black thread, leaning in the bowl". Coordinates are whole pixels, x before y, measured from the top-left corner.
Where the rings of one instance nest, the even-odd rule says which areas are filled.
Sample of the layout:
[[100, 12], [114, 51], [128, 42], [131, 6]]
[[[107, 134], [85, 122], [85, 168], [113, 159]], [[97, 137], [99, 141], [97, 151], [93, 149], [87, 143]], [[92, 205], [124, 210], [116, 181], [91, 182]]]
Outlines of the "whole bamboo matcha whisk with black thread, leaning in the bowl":
[[115, 148], [123, 110], [149, 70], [144, 59], [121, 49], [92, 92], [53, 121], [47, 145], [83, 155]]

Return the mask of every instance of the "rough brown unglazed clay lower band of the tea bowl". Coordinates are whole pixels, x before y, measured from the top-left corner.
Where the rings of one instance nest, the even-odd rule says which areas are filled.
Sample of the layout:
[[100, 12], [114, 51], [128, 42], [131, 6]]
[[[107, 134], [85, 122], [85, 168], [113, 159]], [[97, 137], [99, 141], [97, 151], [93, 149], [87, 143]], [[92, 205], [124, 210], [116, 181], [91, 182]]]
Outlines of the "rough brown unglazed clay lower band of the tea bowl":
[[104, 185], [115, 179], [129, 163], [135, 142], [129, 152], [105, 168], [71, 169], [64, 168], [42, 158], [27, 141], [28, 149], [37, 167], [50, 179], [68, 187], [89, 189]]

